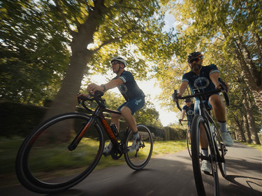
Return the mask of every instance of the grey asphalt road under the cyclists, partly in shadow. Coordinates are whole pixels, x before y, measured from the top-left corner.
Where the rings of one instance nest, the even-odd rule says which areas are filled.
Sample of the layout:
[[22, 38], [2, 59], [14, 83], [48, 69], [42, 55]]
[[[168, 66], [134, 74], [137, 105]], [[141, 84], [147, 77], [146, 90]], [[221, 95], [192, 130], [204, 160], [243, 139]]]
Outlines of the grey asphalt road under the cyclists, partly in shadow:
[[[242, 144], [228, 147], [227, 179], [219, 173], [220, 195], [262, 195], [262, 153]], [[0, 189], [0, 195], [41, 195], [22, 186]], [[187, 151], [150, 160], [140, 172], [127, 165], [92, 172], [77, 186], [57, 196], [153, 196], [196, 195], [196, 187]]]

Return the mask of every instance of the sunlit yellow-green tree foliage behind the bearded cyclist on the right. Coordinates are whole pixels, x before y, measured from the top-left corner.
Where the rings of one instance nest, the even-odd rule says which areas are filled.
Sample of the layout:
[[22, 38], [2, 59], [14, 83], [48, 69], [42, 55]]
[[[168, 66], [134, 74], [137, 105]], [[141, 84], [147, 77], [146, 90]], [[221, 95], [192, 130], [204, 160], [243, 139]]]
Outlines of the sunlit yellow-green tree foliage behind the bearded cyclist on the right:
[[[240, 113], [244, 112], [249, 117], [256, 113], [253, 118], [258, 117], [260, 120], [249, 120], [249, 123], [256, 122], [256, 126], [249, 125], [254, 127], [250, 132], [256, 134], [259, 131], [257, 125], [261, 126], [262, 113], [261, 3], [186, 0], [168, 1], [168, 6], [178, 24], [176, 30], [180, 36], [177, 36], [177, 43], [182, 46], [176, 48], [172, 62], [165, 62], [156, 68], [160, 86], [167, 92], [162, 99], [163, 104], [176, 110], [170, 99], [170, 94], [173, 93], [170, 86], [175, 89], [179, 87], [182, 74], [189, 71], [187, 55], [198, 50], [204, 53], [203, 64], [217, 64], [221, 77], [231, 85], [233, 103], [247, 106], [236, 109], [235, 113], [228, 113], [231, 126], [237, 122], [238, 127], [240, 126], [239, 122], [243, 119]], [[247, 90], [242, 91], [243, 87]], [[249, 104], [240, 101], [245, 94], [251, 96], [248, 99]], [[228, 111], [230, 110], [229, 108]], [[259, 142], [255, 136], [252, 139]]]

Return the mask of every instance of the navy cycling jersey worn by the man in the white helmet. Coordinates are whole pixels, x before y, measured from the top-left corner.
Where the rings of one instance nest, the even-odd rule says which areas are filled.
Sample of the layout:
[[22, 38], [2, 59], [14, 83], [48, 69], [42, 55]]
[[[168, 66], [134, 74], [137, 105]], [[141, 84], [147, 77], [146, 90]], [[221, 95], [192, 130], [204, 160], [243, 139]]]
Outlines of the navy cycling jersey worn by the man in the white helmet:
[[114, 79], [121, 79], [123, 83], [118, 86], [119, 91], [123, 95], [126, 102], [129, 102], [131, 99], [136, 97], [145, 97], [143, 90], [138, 87], [135, 78], [133, 78], [133, 74], [129, 71], [124, 71], [121, 76], [115, 77]]

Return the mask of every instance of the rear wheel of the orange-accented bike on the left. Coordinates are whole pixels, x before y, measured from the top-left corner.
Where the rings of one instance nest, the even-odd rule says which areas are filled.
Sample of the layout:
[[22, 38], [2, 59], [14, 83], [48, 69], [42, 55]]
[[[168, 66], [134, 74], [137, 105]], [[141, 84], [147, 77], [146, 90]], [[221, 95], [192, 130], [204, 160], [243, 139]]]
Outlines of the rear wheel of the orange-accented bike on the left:
[[[126, 160], [127, 165], [134, 170], [143, 169], [147, 163], [150, 161], [152, 151], [153, 151], [153, 138], [150, 130], [145, 125], [137, 125], [138, 132], [141, 139], [141, 144], [138, 151], [134, 151], [133, 153], [127, 151], [124, 153], [124, 158]], [[130, 148], [133, 143], [133, 133], [130, 131], [126, 138], [126, 148]]]

